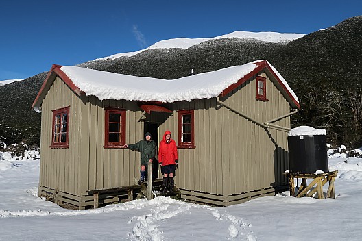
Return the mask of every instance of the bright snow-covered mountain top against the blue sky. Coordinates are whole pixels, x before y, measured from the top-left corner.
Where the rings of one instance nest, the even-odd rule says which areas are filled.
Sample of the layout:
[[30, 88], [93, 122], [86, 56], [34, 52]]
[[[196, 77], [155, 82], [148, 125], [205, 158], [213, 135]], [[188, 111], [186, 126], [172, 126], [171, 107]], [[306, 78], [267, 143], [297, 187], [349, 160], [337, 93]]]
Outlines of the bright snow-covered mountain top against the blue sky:
[[114, 60], [119, 57], [130, 57], [149, 49], [172, 49], [172, 48], [189, 49], [189, 47], [193, 45], [198, 45], [202, 42], [220, 39], [220, 38], [245, 38], [249, 40], [280, 43], [280, 42], [289, 42], [297, 38], [302, 38], [304, 35], [305, 34], [281, 34], [271, 31], [259, 32], [259, 33], [254, 33], [250, 31], [234, 31], [230, 34], [224, 34], [214, 38], [173, 38], [169, 40], [162, 40], [160, 42], [156, 42], [155, 44], [147, 47], [147, 49], [141, 49], [139, 51], [128, 52], [128, 53], [117, 53], [115, 55], [110, 55], [104, 58], [98, 58], [96, 60], [108, 60], [108, 59]]

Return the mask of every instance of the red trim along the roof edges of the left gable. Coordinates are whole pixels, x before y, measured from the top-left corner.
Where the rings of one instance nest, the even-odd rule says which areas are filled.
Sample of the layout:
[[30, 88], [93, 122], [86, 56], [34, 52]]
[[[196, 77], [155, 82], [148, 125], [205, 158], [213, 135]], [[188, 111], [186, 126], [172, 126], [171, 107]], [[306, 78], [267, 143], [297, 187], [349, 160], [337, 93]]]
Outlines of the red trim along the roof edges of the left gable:
[[41, 86], [38, 95], [36, 96], [32, 108], [34, 109], [34, 107], [36, 107], [36, 104], [38, 103], [38, 101], [43, 101], [40, 100], [40, 97], [43, 93], [43, 91], [45, 91], [45, 88], [48, 84], [49, 79], [51, 79], [51, 76], [53, 75], [53, 73], [56, 73], [56, 75], [58, 75], [60, 77], [60, 79], [62, 79], [62, 81], [64, 81], [65, 84], [67, 84], [67, 86], [69, 86], [69, 88], [71, 88], [71, 90], [73, 90], [76, 94], [81, 95], [84, 94], [84, 92], [82, 92], [82, 90], [80, 90], [80, 88], [78, 88], [73, 81], [71, 81], [71, 79], [69, 79], [69, 77], [60, 69], [62, 68], [61, 65], [58, 64], [53, 64], [53, 66], [51, 66], [51, 69], [47, 75], [47, 78], [45, 79], [45, 81], [43, 82], [43, 85]]

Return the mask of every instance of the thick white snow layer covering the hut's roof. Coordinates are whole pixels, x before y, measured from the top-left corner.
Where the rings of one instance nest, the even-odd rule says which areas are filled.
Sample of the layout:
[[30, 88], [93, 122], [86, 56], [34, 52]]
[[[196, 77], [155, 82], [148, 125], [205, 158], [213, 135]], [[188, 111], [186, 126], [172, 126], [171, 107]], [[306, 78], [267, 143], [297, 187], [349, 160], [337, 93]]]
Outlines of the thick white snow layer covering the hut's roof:
[[[224, 90], [233, 84], [238, 84], [244, 77], [250, 77], [250, 74], [254, 75], [263, 68], [269, 68], [269, 71], [274, 73], [276, 79], [280, 81], [280, 86], [298, 106], [298, 97], [288, 86], [287, 81], [266, 60], [173, 80], [122, 75], [76, 66], [58, 67], [60, 68], [58, 72], [69, 78], [67, 84], [77, 89], [75, 92], [83, 92], [87, 96], [93, 95], [100, 100], [124, 99], [164, 103], [218, 97]], [[38, 97], [34, 104], [37, 100]]]

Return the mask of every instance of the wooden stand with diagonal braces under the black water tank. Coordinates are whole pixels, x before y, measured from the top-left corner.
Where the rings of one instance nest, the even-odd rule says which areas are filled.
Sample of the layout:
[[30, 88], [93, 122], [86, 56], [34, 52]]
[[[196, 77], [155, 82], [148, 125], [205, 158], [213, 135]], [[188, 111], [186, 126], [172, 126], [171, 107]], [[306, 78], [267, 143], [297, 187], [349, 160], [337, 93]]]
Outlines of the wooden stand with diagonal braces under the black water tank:
[[[328, 182], [329, 187], [327, 190], [326, 198], [335, 198], [335, 178], [337, 177], [338, 170], [328, 173], [284, 173], [289, 179], [290, 196], [295, 196], [294, 179], [301, 178], [302, 184], [298, 190], [296, 197], [313, 196], [315, 192], [318, 193], [318, 199], [324, 199], [323, 186]], [[313, 179], [309, 185], [306, 185], [307, 179]], [[313, 186], [317, 185], [316, 188]], [[312, 189], [313, 188], [313, 189]]]

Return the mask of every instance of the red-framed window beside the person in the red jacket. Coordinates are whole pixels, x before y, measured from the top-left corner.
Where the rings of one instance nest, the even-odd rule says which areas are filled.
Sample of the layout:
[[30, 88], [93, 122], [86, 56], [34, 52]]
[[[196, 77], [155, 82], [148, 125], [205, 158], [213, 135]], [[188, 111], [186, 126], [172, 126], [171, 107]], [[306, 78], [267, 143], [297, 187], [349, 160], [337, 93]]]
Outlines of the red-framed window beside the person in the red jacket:
[[195, 148], [193, 110], [178, 111], [178, 147]]

